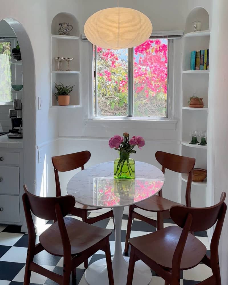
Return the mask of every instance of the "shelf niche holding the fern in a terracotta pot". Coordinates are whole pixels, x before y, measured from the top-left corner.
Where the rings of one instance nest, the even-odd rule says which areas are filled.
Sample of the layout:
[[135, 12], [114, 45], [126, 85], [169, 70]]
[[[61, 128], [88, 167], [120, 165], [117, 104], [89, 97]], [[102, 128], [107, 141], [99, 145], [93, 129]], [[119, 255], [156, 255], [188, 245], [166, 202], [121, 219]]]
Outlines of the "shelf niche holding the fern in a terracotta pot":
[[[70, 104], [66, 107], [76, 107], [80, 106], [80, 93], [79, 93], [79, 74], [59, 74], [59, 73], [52, 73], [51, 74], [51, 84], [52, 84], [52, 102], [51, 107], [59, 106], [56, 100], [54, 93], [56, 93], [56, 88], [54, 87], [55, 82], [59, 84], [61, 82], [64, 86], [67, 85], [74, 85], [72, 92], [70, 93]], [[62, 106], [59, 106], [62, 107]]]

